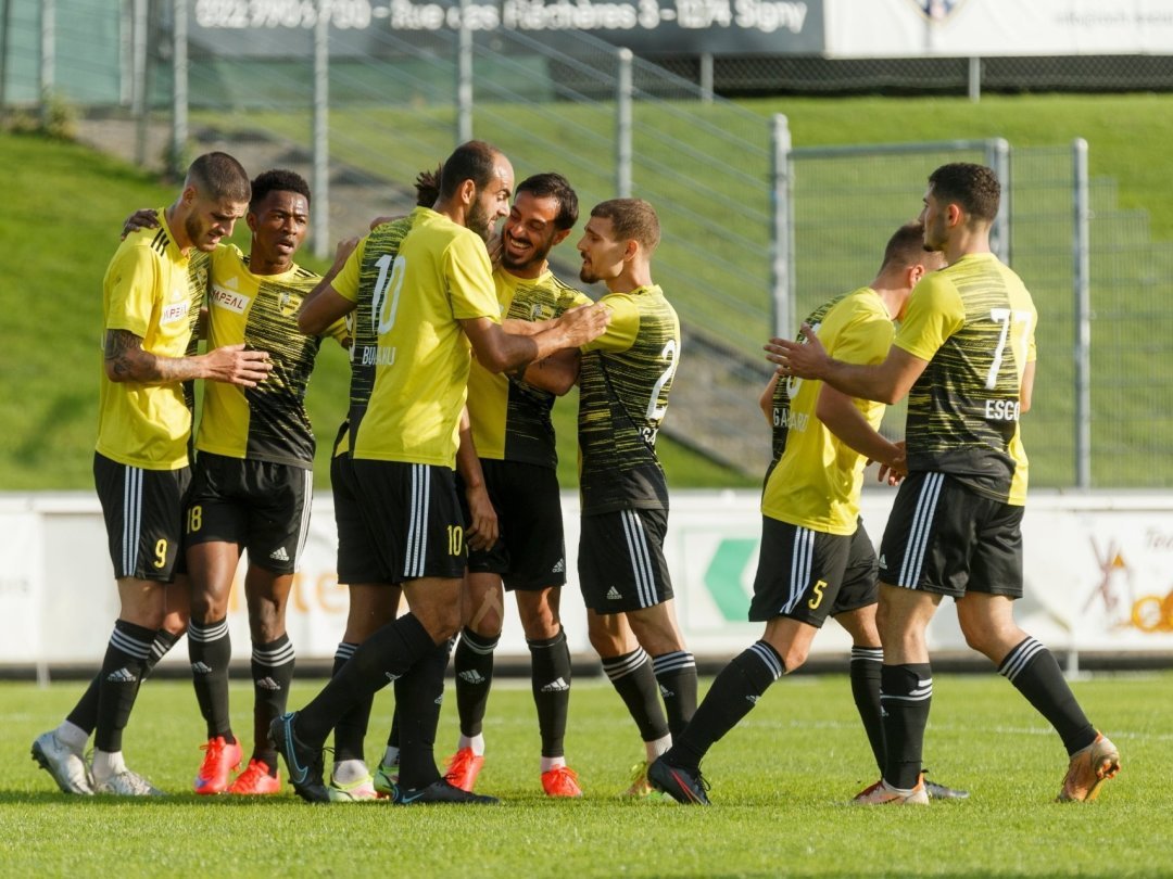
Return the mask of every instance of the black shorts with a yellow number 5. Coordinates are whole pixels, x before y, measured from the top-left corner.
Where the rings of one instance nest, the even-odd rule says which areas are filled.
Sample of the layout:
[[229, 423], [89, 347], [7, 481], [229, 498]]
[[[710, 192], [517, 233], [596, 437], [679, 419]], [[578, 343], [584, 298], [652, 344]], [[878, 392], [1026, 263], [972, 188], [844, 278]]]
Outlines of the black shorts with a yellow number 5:
[[775, 616], [822, 628], [828, 616], [874, 605], [876, 553], [859, 523], [854, 534], [827, 534], [761, 517], [761, 554], [750, 620]]

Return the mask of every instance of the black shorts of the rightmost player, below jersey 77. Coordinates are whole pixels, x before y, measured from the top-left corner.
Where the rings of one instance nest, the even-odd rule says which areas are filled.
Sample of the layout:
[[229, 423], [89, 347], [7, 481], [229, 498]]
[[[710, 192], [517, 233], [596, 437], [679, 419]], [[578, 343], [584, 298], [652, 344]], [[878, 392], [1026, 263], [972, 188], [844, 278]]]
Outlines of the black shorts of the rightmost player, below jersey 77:
[[1022, 506], [979, 495], [948, 473], [909, 473], [880, 544], [880, 580], [954, 598], [1022, 598]]

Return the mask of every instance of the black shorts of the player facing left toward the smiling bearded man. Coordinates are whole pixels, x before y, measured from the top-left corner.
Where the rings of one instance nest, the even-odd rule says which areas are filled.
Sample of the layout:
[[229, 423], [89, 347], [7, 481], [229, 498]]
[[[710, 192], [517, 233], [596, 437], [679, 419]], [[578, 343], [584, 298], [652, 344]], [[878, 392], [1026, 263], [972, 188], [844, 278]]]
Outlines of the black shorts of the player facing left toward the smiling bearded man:
[[672, 598], [664, 560], [667, 510], [617, 510], [583, 516], [578, 580], [596, 613], [653, 607]]

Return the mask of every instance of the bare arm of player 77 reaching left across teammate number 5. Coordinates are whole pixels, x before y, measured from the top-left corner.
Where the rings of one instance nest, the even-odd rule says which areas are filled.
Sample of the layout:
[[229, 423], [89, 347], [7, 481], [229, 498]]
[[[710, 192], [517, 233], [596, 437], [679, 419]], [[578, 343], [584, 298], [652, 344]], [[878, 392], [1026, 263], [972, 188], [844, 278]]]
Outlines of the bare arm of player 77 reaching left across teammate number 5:
[[846, 363], [827, 354], [809, 325], [802, 325], [802, 335], [805, 342], [771, 339], [765, 346], [766, 360], [780, 366], [784, 375], [820, 379], [853, 397], [895, 403], [908, 394], [929, 364], [895, 345], [882, 363]]

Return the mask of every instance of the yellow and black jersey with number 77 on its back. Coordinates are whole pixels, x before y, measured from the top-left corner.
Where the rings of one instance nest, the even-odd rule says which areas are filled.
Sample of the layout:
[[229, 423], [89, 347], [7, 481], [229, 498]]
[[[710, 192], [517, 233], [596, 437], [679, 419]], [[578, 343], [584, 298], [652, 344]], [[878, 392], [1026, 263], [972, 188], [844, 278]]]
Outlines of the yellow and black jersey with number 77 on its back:
[[929, 361], [908, 395], [909, 470], [1026, 502], [1019, 395], [1037, 321], [1026, 287], [992, 253], [968, 254], [916, 285], [895, 340]]

